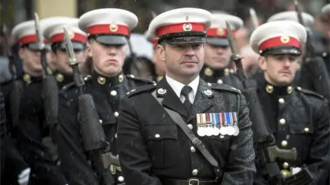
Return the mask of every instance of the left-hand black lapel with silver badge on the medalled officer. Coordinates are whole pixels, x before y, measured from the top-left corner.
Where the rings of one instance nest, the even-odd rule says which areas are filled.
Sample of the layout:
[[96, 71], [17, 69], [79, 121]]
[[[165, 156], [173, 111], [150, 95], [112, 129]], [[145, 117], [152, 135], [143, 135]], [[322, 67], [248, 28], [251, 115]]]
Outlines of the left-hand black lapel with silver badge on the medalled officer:
[[188, 116], [188, 111], [184, 107], [184, 104], [181, 102], [179, 97], [175, 94], [173, 88], [167, 83], [166, 78], [164, 77], [157, 83], [157, 97], [163, 97], [162, 105], [170, 110], [178, 112], [185, 118]]

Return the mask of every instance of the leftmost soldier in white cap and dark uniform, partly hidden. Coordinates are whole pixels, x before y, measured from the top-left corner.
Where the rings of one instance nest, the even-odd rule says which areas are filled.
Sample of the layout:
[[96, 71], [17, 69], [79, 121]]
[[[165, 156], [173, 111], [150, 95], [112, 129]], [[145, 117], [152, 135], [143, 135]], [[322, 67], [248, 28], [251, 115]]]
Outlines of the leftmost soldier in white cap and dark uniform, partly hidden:
[[[40, 32], [47, 23], [56, 23], [56, 18], [41, 20]], [[17, 145], [23, 158], [31, 168], [32, 184], [67, 184], [61, 169], [56, 165], [43, 139], [50, 134], [45, 127], [43, 97], [43, 67], [41, 52], [37, 43], [34, 21], [20, 23], [14, 27], [12, 37], [20, 43], [19, 55], [23, 60], [23, 90], [19, 99], [19, 123], [17, 125]], [[13, 91], [13, 90], [12, 90]], [[12, 99], [11, 99], [12, 100]], [[14, 102], [10, 102], [14, 103]], [[12, 112], [10, 112], [12, 114]], [[15, 114], [14, 114], [15, 115]]]

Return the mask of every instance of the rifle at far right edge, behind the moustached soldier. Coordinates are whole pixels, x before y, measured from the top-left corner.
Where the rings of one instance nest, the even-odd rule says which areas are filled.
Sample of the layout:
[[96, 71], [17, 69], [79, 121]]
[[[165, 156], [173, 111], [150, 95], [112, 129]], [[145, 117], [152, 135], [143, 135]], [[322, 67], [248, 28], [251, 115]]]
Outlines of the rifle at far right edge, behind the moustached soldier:
[[[301, 10], [297, 0], [294, 0], [295, 9], [298, 16], [298, 21], [301, 25], [305, 26]], [[303, 60], [303, 65], [311, 73], [311, 84], [313, 90], [320, 95], [323, 95], [326, 99], [330, 99], [330, 77], [327, 72], [327, 66], [325, 61], [320, 56], [315, 56], [314, 45], [311, 42], [311, 30], [307, 31], [307, 42], [306, 42], [306, 55], [305, 60]], [[300, 83], [305, 84], [305, 82], [310, 81], [310, 79], [305, 79], [308, 75], [303, 75], [300, 78]], [[310, 77], [309, 77], [310, 78]]]

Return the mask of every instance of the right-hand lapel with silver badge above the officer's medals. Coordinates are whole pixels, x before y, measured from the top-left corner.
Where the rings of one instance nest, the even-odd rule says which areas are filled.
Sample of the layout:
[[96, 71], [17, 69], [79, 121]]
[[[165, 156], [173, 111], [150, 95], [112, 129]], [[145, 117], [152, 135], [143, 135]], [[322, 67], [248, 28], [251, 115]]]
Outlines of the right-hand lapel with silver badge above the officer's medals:
[[190, 111], [187, 123], [196, 117], [196, 114], [206, 112], [214, 104], [214, 92], [208, 86], [203, 79], [199, 79], [199, 86], [197, 88], [197, 93], [195, 101], [192, 104], [192, 110]]

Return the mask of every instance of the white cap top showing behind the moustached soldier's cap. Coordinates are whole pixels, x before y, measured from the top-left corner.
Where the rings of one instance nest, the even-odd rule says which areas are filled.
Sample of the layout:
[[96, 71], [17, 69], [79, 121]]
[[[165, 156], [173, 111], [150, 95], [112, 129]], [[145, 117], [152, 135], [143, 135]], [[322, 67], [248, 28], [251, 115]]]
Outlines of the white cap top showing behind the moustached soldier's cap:
[[[311, 14], [302, 12], [301, 16], [303, 17], [304, 25], [306, 27], [314, 26], [314, 17], [311, 16]], [[278, 14], [274, 14], [267, 20], [267, 22], [272, 22], [272, 21], [295, 21], [299, 23], [298, 15], [296, 11], [280, 12]]]

